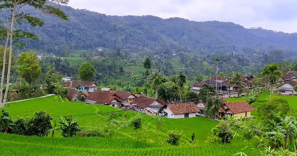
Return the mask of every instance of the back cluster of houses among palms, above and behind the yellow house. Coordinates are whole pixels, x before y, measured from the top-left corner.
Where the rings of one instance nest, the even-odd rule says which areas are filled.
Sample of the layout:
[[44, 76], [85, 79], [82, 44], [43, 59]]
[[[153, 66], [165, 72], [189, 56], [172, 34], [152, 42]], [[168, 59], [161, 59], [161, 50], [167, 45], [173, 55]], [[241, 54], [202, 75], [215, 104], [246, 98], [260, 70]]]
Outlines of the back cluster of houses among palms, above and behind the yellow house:
[[[246, 84], [245, 87], [249, 88], [250, 86], [252, 86], [251, 82], [254, 79], [254, 77], [252, 75], [242, 75], [242, 76], [243, 76], [243, 82]], [[238, 89], [236, 86], [232, 86], [229, 84], [228, 77], [213, 76], [209, 80], [202, 80], [202, 81], [193, 83], [190, 91], [199, 93], [199, 90], [201, 89], [203, 84], [208, 84], [213, 86], [217, 92], [230, 92], [230, 91], [236, 91]]]

